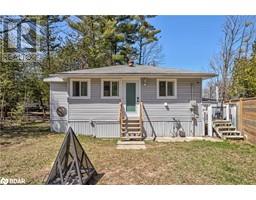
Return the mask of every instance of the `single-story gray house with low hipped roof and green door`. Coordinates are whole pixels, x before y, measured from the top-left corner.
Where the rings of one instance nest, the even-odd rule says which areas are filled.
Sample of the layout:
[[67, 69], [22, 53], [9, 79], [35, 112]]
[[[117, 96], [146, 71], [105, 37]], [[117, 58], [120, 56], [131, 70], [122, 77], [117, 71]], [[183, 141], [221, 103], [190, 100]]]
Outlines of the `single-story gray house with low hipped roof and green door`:
[[204, 136], [202, 81], [168, 67], [116, 65], [53, 74], [51, 129], [99, 138]]

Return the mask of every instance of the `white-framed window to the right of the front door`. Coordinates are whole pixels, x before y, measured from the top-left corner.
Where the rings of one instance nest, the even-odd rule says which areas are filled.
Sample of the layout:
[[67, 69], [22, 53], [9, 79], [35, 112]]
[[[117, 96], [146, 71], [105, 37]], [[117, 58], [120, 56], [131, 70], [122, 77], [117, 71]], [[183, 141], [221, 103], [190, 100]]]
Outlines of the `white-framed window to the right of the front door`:
[[157, 98], [176, 98], [177, 85], [175, 79], [157, 80]]

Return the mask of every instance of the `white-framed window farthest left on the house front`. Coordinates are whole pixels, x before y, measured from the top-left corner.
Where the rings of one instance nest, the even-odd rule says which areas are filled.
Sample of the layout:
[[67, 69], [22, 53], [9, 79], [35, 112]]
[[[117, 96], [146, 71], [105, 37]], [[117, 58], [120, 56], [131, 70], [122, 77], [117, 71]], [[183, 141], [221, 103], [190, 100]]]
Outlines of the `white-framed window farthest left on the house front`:
[[71, 80], [71, 96], [89, 98], [89, 80]]

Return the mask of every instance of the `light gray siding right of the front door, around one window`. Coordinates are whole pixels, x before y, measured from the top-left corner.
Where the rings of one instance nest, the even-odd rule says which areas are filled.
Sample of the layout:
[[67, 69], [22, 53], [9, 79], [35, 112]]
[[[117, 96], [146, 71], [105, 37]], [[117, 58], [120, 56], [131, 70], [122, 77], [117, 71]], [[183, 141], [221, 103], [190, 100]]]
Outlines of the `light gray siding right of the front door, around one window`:
[[[142, 83], [144, 80], [142, 79]], [[201, 102], [201, 79], [177, 79], [177, 99], [157, 99], [157, 79], [147, 78], [147, 84], [141, 86], [141, 99], [144, 102], [144, 129], [149, 137], [155, 133], [158, 137], [172, 136], [175, 120], [181, 123], [186, 136], [203, 136], [201, 107], [195, 126], [192, 123], [190, 101]], [[164, 106], [164, 103], [168, 107]]]

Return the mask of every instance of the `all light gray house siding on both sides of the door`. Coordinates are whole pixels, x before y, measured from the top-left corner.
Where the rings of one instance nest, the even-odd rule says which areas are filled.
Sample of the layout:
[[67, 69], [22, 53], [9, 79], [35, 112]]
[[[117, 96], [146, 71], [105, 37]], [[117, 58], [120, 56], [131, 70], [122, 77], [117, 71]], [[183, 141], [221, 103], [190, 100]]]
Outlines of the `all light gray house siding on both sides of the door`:
[[[144, 130], [148, 137], [155, 133], [159, 137], [172, 136], [174, 121], [181, 122], [186, 136], [202, 136], [201, 116], [195, 127], [192, 124], [190, 100], [201, 102], [201, 79], [177, 79], [177, 99], [157, 99], [157, 79], [141, 80], [141, 100], [144, 102]], [[191, 88], [192, 84], [192, 88]], [[51, 83], [51, 123], [55, 131], [65, 131], [67, 122], [76, 133], [96, 137], [119, 137], [119, 99], [101, 99], [101, 79], [91, 79], [91, 98], [69, 98], [69, 81]], [[193, 95], [191, 94], [193, 91]], [[168, 107], [164, 103], [168, 103]], [[64, 118], [57, 116], [58, 106], [68, 109]], [[200, 112], [199, 107], [199, 113]], [[193, 129], [195, 130], [193, 134]]]

